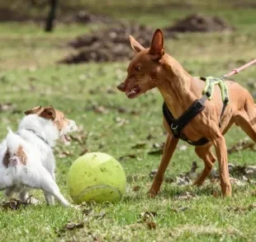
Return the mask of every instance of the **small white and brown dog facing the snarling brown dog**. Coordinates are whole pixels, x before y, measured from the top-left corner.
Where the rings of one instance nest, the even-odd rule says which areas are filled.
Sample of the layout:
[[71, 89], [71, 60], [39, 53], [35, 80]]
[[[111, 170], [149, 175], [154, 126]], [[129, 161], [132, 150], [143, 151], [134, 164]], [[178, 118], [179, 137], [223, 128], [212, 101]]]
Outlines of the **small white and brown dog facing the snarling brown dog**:
[[69, 202], [55, 183], [52, 147], [58, 138], [68, 142], [66, 134], [77, 129], [76, 123], [51, 106], [39, 106], [25, 114], [17, 133], [9, 130], [0, 145], [0, 190], [6, 190], [8, 198], [18, 193], [21, 201], [26, 202], [31, 188], [42, 189], [49, 205], [54, 204], [55, 197], [68, 207]]

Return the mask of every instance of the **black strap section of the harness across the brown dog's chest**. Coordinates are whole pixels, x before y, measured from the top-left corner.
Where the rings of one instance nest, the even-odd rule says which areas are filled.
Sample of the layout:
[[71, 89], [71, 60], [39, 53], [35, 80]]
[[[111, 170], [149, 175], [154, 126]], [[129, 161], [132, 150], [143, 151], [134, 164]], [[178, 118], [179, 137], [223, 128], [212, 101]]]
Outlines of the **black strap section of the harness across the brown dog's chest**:
[[197, 116], [197, 114], [201, 113], [201, 111], [205, 109], [206, 100], [206, 95], [203, 95], [201, 99], [195, 100], [194, 103], [178, 119], [173, 118], [173, 114], [170, 112], [168, 106], [164, 102], [164, 119], [167, 121], [169, 127], [171, 128], [174, 137], [180, 138], [192, 146], [203, 146], [209, 142], [205, 137], [202, 137], [196, 142], [192, 142], [189, 141], [187, 137], [182, 133], [183, 128], [187, 125], [187, 123], [189, 123], [195, 116]]

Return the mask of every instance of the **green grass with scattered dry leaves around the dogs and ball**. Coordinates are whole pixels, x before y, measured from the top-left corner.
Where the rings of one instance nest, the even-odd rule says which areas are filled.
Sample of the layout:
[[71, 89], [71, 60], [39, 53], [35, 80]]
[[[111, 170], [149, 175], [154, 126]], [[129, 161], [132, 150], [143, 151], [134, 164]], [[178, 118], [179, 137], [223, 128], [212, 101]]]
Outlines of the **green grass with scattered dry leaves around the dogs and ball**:
[[[107, 1], [109, 7], [102, 6], [104, 12], [118, 16], [114, 12], [121, 1]], [[135, 1], [134, 4], [140, 4]], [[162, 1], [164, 2], [164, 1]], [[178, 59], [192, 75], [219, 76], [239, 67], [242, 62], [255, 58], [255, 9], [238, 9], [223, 6], [216, 2], [212, 7], [192, 1], [195, 12], [225, 16], [238, 30], [227, 34], [184, 34], [178, 40], [166, 41], [168, 53]], [[88, 1], [89, 9], [100, 12], [99, 7]], [[102, 3], [103, 4], [103, 3]], [[106, 3], [107, 4], [107, 3]], [[136, 5], [134, 5], [136, 6]], [[149, 26], [166, 26], [178, 16], [185, 16], [190, 10], [175, 8], [168, 11], [150, 12], [138, 7], [134, 15], [130, 8], [122, 12], [122, 18], [138, 16], [138, 21]], [[170, 9], [168, 7], [167, 9]], [[97, 27], [97, 26], [93, 26]], [[164, 184], [158, 198], [149, 199], [146, 192], [152, 182], [149, 173], [159, 165], [160, 156], [149, 156], [148, 151], [156, 142], [164, 142], [162, 127], [162, 97], [157, 90], [150, 91], [135, 100], [116, 91], [116, 85], [126, 77], [128, 63], [87, 63], [80, 65], [58, 65], [56, 61], [70, 53], [65, 43], [74, 36], [89, 31], [92, 26], [57, 26], [53, 34], [47, 35], [35, 24], [0, 24], [0, 83], [1, 103], [11, 103], [11, 109], [0, 113], [0, 135], [5, 137], [7, 126], [14, 130], [23, 111], [36, 105], [54, 105], [64, 110], [70, 119], [83, 127], [86, 134], [85, 145], [73, 142], [70, 147], [61, 144], [55, 149], [57, 161], [57, 182], [69, 199], [65, 177], [69, 166], [86, 147], [89, 151], [102, 151], [115, 156], [134, 155], [135, 158], [121, 160], [127, 176], [127, 191], [121, 202], [116, 204], [87, 205], [92, 208], [92, 216], [66, 209], [57, 204], [47, 207], [45, 203], [37, 207], [26, 207], [19, 211], [1, 211], [0, 241], [255, 241], [256, 211], [249, 205], [254, 204], [251, 196], [253, 184], [233, 185], [233, 197], [215, 198], [220, 194], [218, 184], [206, 183], [202, 188]], [[234, 77], [242, 86], [249, 88], [248, 81], [255, 81], [256, 70], [249, 67]], [[254, 89], [250, 89], [254, 93]], [[102, 105], [105, 114], [95, 112], [92, 106]], [[119, 109], [126, 110], [120, 113]], [[133, 114], [131, 114], [133, 113]], [[150, 140], [147, 139], [152, 135]], [[228, 147], [244, 133], [232, 128], [226, 134]], [[133, 149], [144, 142], [145, 147]], [[202, 168], [202, 162], [194, 154], [193, 147], [182, 151], [186, 145], [180, 142], [166, 174], [175, 177], [190, 169], [192, 161]], [[64, 155], [64, 151], [70, 154]], [[229, 156], [230, 162], [238, 165], [254, 165], [254, 151], [239, 151]], [[217, 165], [216, 165], [217, 166]], [[199, 170], [200, 170], [199, 169]], [[138, 192], [133, 191], [140, 186]], [[190, 192], [196, 198], [187, 200], [178, 196]], [[36, 198], [44, 201], [39, 191], [33, 192]], [[1, 197], [0, 200], [4, 201]], [[181, 207], [187, 207], [180, 211]], [[243, 209], [235, 209], [242, 207]], [[1, 209], [1, 208], [0, 208]], [[140, 223], [141, 212], [157, 212], [152, 218], [155, 230], [149, 230]], [[105, 213], [105, 216], [98, 216]], [[62, 230], [68, 221], [84, 221], [84, 227], [77, 230]]]

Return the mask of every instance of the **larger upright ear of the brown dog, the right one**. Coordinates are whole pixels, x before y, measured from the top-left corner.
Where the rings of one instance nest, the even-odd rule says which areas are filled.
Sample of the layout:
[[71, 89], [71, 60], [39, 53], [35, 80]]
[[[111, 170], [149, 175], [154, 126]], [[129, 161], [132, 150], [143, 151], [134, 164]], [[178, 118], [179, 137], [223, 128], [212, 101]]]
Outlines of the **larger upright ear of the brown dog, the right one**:
[[154, 32], [149, 54], [152, 54], [154, 58], [162, 58], [164, 55], [164, 35], [159, 29]]

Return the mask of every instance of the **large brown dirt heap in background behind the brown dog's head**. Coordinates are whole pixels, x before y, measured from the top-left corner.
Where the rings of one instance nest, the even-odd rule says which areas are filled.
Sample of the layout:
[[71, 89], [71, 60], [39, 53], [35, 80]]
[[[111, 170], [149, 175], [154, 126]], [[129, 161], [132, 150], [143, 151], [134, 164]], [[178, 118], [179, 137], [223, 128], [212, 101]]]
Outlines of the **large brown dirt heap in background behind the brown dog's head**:
[[[59, 63], [116, 62], [133, 58], [129, 35], [145, 47], [149, 47], [154, 30], [143, 25], [121, 23], [105, 30], [97, 30], [88, 35], [78, 36], [69, 42], [78, 54], [72, 54]], [[168, 35], [170, 37], [170, 35]]]

